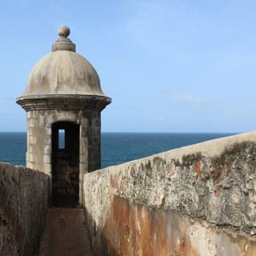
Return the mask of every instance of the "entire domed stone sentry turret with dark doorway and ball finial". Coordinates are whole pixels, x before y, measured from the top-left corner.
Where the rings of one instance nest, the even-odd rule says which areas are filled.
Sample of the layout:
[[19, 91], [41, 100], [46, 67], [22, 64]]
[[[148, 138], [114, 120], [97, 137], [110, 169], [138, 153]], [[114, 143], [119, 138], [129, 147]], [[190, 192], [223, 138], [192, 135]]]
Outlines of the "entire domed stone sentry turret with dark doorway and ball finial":
[[103, 94], [94, 67], [61, 26], [52, 52], [30, 72], [17, 103], [27, 114], [26, 166], [50, 176], [53, 203], [81, 202], [82, 174], [101, 166]]

